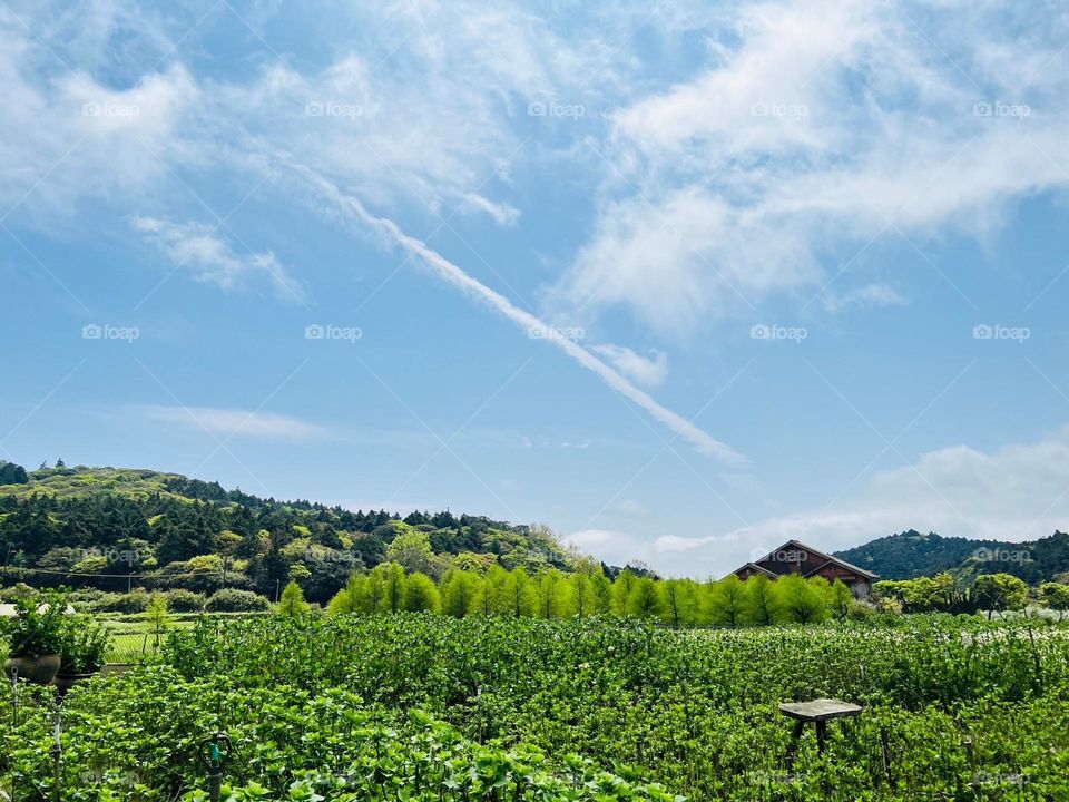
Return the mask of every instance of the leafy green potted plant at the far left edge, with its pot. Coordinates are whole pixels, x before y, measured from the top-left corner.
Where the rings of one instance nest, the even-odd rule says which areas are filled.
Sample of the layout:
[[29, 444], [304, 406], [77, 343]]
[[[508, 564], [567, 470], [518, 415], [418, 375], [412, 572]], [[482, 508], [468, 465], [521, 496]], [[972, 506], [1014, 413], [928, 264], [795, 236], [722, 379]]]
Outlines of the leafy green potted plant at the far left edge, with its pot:
[[0, 619], [0, 634], [8, 639], [3, 673], [9, 678], [48, 685], [59, 671], [67, 597], [60, 593], [17, 598], [14, 617]]

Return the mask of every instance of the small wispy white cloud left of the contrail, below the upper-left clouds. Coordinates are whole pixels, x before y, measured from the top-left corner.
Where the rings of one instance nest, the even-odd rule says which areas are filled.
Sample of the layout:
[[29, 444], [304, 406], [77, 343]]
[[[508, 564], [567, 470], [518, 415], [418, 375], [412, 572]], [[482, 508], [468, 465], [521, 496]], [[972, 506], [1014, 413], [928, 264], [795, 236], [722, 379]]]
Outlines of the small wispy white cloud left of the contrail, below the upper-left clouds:
[[135, 217], [131, 225], [158, 245], [176, 268], [193, 273], [197, 281], [234, 290], [263, 277], [279, 299], [305, 303], [303, 288], [273, 253], [238, 254], [218, 235], [215, 226], [171, 223], [156, 217]]

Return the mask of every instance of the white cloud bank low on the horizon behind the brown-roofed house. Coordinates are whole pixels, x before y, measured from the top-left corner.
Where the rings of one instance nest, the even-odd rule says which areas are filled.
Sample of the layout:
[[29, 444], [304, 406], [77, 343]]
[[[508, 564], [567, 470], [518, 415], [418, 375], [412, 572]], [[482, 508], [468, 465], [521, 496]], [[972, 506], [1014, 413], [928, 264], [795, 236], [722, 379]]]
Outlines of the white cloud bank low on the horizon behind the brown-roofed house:
[[591, 528], [565, 540], [615, 565], [638, 559], [690, 576], [697, 564], [723, 576], [786, 540], [836, 551], [908, 529], [1008, 541], [1069, 530], [1069, 426], [990, 453], [969, 446], [929, 451], [875, 473], [855, 498], [723, 534], [649, 537]]

